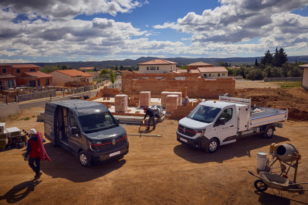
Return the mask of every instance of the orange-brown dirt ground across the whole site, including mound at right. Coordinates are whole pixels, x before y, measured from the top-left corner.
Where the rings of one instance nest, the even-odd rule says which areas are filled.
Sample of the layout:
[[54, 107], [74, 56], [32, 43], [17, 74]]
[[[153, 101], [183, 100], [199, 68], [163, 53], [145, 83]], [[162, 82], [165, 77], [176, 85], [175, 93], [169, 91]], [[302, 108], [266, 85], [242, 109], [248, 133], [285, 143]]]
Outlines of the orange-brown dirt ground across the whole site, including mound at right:
[[[251, 97], [258, 106], [307, 112], [307, 91], [268, 87], [244, 87], [236, 89], [236, 95]], [[22, 110], [1, 121], [6, 127], [43, 132], [43, 122], [36, 121], [43, 111], [42, 107]], [[43, 175], [36, 180], [28, 162], [23, 161], [25, 148], [1, 150], [0, 204], [307, 204], [308, 192], [283, 191], [278, 195], [274, 190], [274, 195], [271, 189], [257, 191], [253, 186], [257, 178], [248, 173], [257, 173], [257, 152], [269, 153], [271, 143], [291, 143], [302, 155], [296, 181], [308, 182], [307, 114], [299, 119], [295, 114], [291, 112], [291, 120], [284, 122], [283, 129], [277, 128], [270, 139], [261, 135], [240, 138], [213, 154], [180, 144], [176, 141], [178, 121], [164, 120], [155, 130], [140, 129], [140, 133], [162, 137], [128, 136], [127, 155], [88, 168], [79, 164], [77, 156], [47, 140], [44, 146], [51, 162], [41, 162]], [[25, 117], [30, 120], [22, 120]], [[139, 129], [138, 125], [122, 126], [128, 133]], [[293, 173], [291, 168], [289, 180], [293, 180]]]

